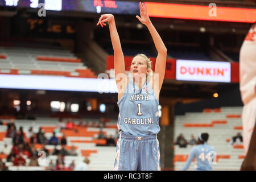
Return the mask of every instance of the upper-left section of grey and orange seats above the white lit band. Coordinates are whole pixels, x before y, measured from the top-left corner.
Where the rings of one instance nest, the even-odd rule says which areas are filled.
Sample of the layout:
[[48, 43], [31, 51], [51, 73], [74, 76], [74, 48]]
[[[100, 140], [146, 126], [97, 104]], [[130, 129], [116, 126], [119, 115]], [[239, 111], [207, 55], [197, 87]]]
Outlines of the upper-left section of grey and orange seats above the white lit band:
[[0, 74], [96, 78], [73, 53], [61, 47], [0, 47]]

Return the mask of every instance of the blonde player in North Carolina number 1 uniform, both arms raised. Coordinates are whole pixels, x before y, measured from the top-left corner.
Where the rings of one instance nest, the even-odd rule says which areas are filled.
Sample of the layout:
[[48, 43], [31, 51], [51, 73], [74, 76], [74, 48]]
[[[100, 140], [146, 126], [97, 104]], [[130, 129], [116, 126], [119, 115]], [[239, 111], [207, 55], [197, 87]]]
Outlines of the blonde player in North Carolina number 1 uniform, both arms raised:
[[[136, 55], [130, 66], [129, 76], [125, 74], [125, 60], [112, 14], [101, 15], [98, 24], [109, 23], [110, 38], [114, 49], [115, 80], [118, 89], [117, 151], [114, 170], [146, 171], [160, 170], [159, 142], [159, 92], [166, 70], [167, 48], [164, 46], [147, 14], [146, 5], [139, 3], [138, 20], [144, 24], [154, 40], [158, 51], [155, 73], [146, 55]], [[139, 51], [139, 50], [138, 50]]]

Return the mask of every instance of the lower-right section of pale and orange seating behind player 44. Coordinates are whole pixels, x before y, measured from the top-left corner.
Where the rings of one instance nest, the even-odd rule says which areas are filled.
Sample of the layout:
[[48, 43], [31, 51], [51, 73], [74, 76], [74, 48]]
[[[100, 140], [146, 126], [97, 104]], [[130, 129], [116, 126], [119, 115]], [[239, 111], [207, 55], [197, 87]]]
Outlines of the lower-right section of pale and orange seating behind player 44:
[[[243, 146], [230, 145], [226, 141], [232, 138], [238, 132], [242, 133], [242, 128], [235, 129], [235, 126], [241, 126], [242, 107], [221, 107], [218, 112], [204, 110], [202, 113], [185, 113], [185, 115], [176, 115], [174, 127], [174, 139], [182, 133], [189, 142], [191, 135], [196, 138], [200, 133], [208, 133], [208, 144], [213, 146], [217, 153], [217, 164], [213, 164], [213, 170], [239, 170], [243, 161]], [[207, 124], [207, 125], [205, 125]], [[180, 170], [191, 151], [191, 145], [187, 148], [174, 146], [175, 150], [175, 170]], [[196, 163], [192, 162], [188, 170], [193, 170]]]

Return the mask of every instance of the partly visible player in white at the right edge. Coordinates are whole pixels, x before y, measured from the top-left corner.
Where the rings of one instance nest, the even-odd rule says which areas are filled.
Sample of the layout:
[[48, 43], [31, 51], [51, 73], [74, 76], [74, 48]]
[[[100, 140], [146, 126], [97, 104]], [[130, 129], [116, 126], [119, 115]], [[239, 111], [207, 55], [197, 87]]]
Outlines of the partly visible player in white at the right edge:
[[256, 170], [256, 22], [240, 49], [240, 92], [245, 160], [241, 170]]

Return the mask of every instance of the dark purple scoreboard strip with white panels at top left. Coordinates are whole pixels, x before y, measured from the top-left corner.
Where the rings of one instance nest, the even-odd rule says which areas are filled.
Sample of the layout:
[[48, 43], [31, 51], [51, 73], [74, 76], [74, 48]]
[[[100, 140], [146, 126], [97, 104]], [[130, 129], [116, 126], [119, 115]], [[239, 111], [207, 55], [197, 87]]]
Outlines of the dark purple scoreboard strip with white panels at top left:
[[0, 6], [38, 8], [54, 11], [85, 11], [88, 13], [139, 14], [139, 2], [113, 0], [0, 0]]

